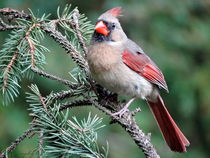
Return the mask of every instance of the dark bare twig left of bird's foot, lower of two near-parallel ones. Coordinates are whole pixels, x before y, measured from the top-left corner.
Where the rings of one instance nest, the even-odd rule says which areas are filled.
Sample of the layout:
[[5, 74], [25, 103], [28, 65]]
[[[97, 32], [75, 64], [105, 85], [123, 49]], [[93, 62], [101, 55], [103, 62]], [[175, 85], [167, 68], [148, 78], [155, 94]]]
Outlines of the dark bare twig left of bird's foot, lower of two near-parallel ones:
[[91, 106], [91, 105], [92, 103], [89, 100], [74, 100], [61, 104], [60, 111], [77, 106]]

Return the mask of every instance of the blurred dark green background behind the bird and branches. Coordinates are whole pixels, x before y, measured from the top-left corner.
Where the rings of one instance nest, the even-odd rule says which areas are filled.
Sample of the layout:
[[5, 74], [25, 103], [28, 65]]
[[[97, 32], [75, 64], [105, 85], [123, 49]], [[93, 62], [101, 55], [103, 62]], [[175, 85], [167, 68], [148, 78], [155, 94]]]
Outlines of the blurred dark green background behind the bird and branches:
[[[40, 15], [51, 13], [56, 17], [58, 6], [78, 6], [80, 12], [96, 23], [104, 11], [121, 6], [122, 27], [129, 38], [142, 49], [162, 70], [169, 87], [169, 94], [162, 93], [165, 104], [185, 136], [190, 140], [186, 153], [173, 153], [165, 144], [147, 105], [139, 100], [130, 107], [140, 106], [142, 112], [135, 117], [140, 128], [151, 132], [151, 140], [164, 158], [210, 157], [210, 1], [209, 0], [1, 0], [0, 8], [10, 7], [28, 12], [39, 10]], [[72, 8], [73, 8], [72, 7]], [[9, 32], [0, 32], [0, 47]], [[51, 52], [46, 54], [46, 71], [69, 79], [73, 68], [67, 57], [50, 38], [43, 41]], [[35, 76], [34, 81], [22, 81], [21, 95], [8, 106], [0, 102], [0, 151], [10, 145], [29, 126], [28, 104], [25, 102], [27, 85], [37, 83], [42, 94], [64, 89], [54, 81]], [[122, 98], [122, 96], [121, 96]], [[129, 98], [126, 98], [129, 99]], [[79, 111], [79, 112], [78, 112]], [[101, 144], [110, 145], [110, 158], [144, 157], [129, 135], [117, 124], [95, 108], [74, 108], [71, 116], [87, 117], [89, 111], [104, 118], [107, 126], [99, 131]], [[71, 117], [70, 116], [70, 117]], [[25, 139], [11, 157], [36, 157], [36, 136]], [[27, 155], [28, 154], [28, 155]]]

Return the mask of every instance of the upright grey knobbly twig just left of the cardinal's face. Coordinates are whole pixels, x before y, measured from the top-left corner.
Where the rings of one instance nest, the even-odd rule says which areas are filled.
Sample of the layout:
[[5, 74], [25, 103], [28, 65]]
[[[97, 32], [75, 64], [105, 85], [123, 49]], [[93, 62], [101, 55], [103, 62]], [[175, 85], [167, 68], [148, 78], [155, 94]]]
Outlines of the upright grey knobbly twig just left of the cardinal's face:
[[79, 44], [84, 52], [85, 57], [87, 56], [88, 53], [88, 49], [85, 45], [85, 42], [82, 38], [82, 34], [79, 28], [79, 20], [78, 20], [78, 15], [79, 15], [79, 10], [78, 9], [74, 9], [73, 14], [72, 14], [72, 18], [73, 18], [73, 22], [74, 22], [74, 27], [73, 29], [76, 31], [76, 35], [77, 35], [77, 39], [79, 41]]

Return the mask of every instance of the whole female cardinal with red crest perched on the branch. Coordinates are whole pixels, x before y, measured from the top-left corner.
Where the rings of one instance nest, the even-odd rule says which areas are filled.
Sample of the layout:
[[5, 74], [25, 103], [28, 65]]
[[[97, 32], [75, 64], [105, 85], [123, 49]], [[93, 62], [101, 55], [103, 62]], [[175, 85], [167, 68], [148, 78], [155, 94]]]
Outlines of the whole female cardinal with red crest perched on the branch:
[[132, 96], [119, 112], [121, 116], [136, 98], [142, 98], [154, 115], [161, 133], [172, 151], [184, 152], [190, 143], [168, 113], [159, 89], [168, 92], [160, 69], [132, 40], [119, 23], [120, 7], [103, 13], [95, 25], [87, 60], [93, 78], [115, 93]]

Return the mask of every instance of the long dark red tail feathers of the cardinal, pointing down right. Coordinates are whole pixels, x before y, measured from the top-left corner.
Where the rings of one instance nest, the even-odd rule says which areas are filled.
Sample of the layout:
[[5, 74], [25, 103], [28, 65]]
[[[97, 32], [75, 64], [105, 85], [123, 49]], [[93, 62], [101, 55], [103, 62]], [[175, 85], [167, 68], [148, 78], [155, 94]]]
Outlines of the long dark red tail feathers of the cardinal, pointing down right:
[[158, 96], [157, 100], [158, 101], [156, 103], [149, 101], [147, 103], [155, 120], [158, 123], [163, 138], [172, 151], [185, 152], [185, 146], [190, 145], [189, 141], [171, 118], [160, 95]]

